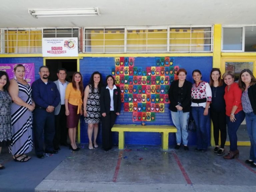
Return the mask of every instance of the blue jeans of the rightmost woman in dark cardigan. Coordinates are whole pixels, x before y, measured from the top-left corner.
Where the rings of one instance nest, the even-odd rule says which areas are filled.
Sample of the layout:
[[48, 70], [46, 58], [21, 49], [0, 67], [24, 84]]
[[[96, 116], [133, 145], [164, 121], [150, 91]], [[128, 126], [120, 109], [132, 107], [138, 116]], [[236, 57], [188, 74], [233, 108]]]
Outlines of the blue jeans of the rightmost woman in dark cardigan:
[[245, 113], [247, 132], [251, 142], [250, 160], [256, 161], [256, 115]]

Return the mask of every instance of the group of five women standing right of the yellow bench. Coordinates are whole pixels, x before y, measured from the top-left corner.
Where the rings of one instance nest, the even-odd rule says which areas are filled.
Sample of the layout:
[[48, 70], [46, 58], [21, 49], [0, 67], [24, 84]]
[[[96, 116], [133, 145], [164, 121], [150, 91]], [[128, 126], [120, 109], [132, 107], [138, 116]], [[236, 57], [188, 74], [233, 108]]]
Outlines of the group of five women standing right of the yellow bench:
[[234, 72], [226, 71], [221, 78], [218, 68], [211, 70], [209, 84], [201, 80], [202, 74], [197, 69], [192, 72], [194, 84], [186, 80], [185, 69], [179, 69], [177, 75], [178, 80], [173, 81], [169, 89], [169, 109], [177, 128], [175, 149], [179, 149], [183, 142], [184, 150], [189, 150], [188, 122], [191, 115], [197, 133], [195, 151], [205, 152], [209, 143], [206, 123], [210, 115], [213, 122], [214, 152], [217, 155], [225, 154], [227, 126], [230, 151], [224, 159], [238, 158], [236, 132], [245, 118], [251, 142], [250, 157], [245, 163], [256, 167], [256, 79], [252, 72], [242, 70], [238, 83], [235, 82]]

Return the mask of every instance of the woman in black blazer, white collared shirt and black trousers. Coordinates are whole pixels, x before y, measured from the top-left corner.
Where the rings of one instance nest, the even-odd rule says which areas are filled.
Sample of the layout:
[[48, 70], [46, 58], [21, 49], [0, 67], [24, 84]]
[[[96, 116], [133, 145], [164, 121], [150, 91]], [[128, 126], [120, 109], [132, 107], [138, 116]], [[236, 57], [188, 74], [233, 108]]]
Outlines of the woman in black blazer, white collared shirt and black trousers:
[[121, 91], [115, 86], [115, 79], [112, 75], [106, 77], [106, 83], [107, 86], [102, 87], [100, 92], [100, 111], [102, 114], [102, 147], [108, 151], [112, 148], [111, 128], [121, 111]]

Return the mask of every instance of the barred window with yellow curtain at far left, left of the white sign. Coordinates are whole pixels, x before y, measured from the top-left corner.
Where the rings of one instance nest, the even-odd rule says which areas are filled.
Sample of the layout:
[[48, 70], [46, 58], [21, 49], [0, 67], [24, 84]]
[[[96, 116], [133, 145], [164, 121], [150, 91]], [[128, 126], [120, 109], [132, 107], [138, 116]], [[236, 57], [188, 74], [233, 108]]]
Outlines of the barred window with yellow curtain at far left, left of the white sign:
[[1, 53], [41, 53], [41, 29], [2, 29]]

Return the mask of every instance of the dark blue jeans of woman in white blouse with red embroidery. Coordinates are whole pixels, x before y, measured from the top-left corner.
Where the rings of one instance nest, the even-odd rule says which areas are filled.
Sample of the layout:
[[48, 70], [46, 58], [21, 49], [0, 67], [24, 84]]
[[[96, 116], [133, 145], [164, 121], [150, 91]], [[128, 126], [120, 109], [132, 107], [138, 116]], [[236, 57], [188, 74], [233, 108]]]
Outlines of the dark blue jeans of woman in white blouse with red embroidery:
[[208, 115], [204, 115], [204, 110], [204, 107], [191, 107], [191, 113], [196, 124], [197, 148], [207, 150], [208, 135], [206, 122], [209, 118], [209, 113]]

